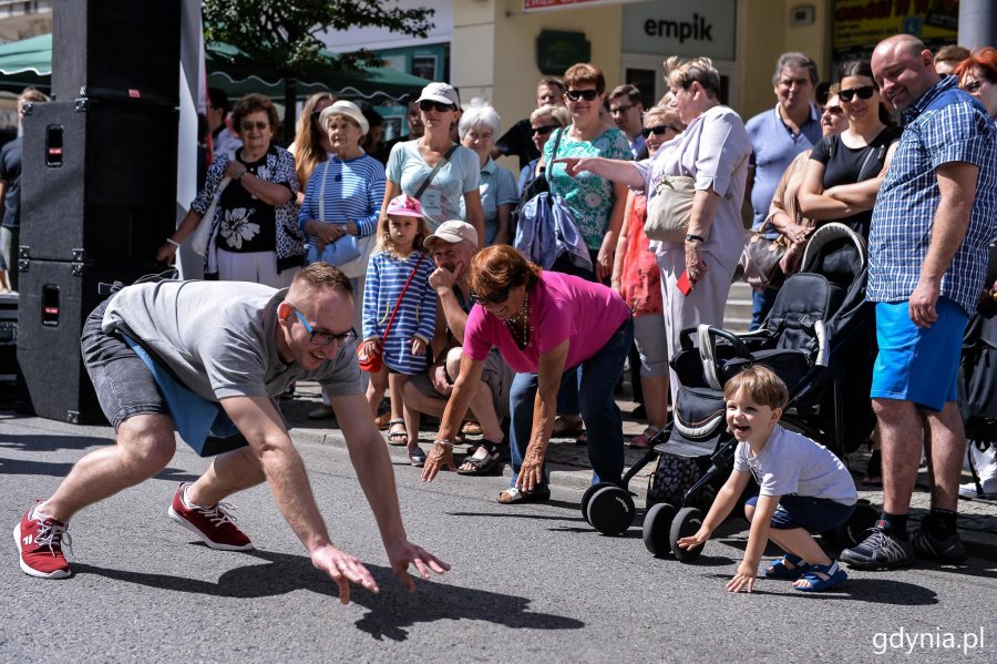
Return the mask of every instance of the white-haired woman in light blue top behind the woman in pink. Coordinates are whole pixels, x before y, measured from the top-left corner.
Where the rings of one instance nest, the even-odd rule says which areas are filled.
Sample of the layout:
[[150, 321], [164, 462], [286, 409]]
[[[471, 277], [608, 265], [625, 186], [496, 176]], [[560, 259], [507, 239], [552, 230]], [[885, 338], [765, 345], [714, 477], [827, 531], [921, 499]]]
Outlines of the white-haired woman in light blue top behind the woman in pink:
[[[495, 135], [502, 127], [498, 113], [483, 99], [474, 98], [471, 105], [461, 114], [459, 132], [461, 144], [477, 154], [481, 164], [481, 210], [484, 217], [484, 244], [510, 244], [512, 208], [520, 200], [516, 191], [516, 176], [492, 159]], [[463, 205], [461, 211], [463, 213]], [[464, 215], [462, 214], [462, 217]]]

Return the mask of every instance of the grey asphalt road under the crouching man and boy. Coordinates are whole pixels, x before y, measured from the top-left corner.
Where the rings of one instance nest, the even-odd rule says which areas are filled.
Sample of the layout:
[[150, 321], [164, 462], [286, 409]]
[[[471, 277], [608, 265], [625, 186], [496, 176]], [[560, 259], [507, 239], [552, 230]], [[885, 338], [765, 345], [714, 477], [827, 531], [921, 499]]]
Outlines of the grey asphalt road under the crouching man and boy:
[[579, 491], [555, 487], [549, 503], [500, 505], [504, 478], [445, 473], [423, 486], [398, 457], [410, 539], [453, 565], [409, 594], [331, 439], [299, 448], [333, 541], [366, 561], [378, 595], [354, 589], [340, 605], [266, 487], [232, 500], [256, 552], [195, 543], [166, 517], [177, 482], [205, 467], [184, 446], [157, 478], [73, 520], [73, 578], [27, 576], [10, 529], [110, 440], [107, 428], [0, 415], [0, 662], [997, 661], [991, 546], [973, 545], [958, 569], [853, 571], [843, 590], [821, 596], [775, 581], [729, 594], [747, 542], [740, 521], [693, 564], [655, 559], [637, 527], [623, 538], [593, 531]]

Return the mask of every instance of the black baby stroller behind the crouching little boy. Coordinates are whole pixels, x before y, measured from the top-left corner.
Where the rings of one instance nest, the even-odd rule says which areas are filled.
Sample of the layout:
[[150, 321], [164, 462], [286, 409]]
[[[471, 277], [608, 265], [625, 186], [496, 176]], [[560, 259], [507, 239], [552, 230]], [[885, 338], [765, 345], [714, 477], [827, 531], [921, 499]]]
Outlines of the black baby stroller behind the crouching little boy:
[[[697, 558], [701, 548], [680, 549], [676, 542], [702, 524], [702, 512], [690, 503], [726, 479], [732, 466], [737, 441], [727, 431], [723, 385], [752, 364], [771, 368], [787, 384], [785, 425], [842, 458], [857, 449], [874, 425], [868, 387], [875, 326], [865, 286], [865, 242], [847, 226], [828, 224], [812, 235], [802, 272], [787, 279], [761, 329], [738, 335], [701, 325], [683, 330], [681, 349], [670, 361], [682, 381], [671, 420], [624, 477], [624, 488], [599, 483], [586, 491], [585, 519], [604, 534], [621, 534], [636, 513], [626, 487], [637, 472], [659, 456], [692, 460], [705, 471], [679, 504], [650, 504], [648, 493], [644, 542], [656, 555], [671, 550], [679, 560]], [[877, 515], [864, 507], [835, 534], [861, 539]]]

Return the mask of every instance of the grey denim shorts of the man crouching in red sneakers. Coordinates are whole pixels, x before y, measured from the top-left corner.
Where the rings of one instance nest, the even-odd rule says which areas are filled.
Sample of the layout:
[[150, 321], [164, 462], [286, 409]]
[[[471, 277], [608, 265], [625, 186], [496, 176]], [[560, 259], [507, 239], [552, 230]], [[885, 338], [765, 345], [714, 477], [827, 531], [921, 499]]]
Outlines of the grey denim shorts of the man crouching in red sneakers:
[[86, 318], [80, 347], [101, 410], [116, 431], [130, 417], [168, 416], [169, 408], [153, 375], [121, 335], [109, 335], [101, 329], [107, 302], [101, 303]]

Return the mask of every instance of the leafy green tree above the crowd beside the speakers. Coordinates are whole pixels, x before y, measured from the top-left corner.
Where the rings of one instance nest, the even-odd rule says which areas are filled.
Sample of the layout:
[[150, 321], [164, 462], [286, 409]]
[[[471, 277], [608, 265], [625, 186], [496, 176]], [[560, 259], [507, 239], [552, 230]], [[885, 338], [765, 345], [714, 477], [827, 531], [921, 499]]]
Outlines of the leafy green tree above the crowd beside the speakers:
[[205, 39], [237, 47], [253, 63], [284, 78], [285, 137], [294, 133], [297, 79], [380, 64], [364, 49], [330, 61], [321, 54], [326, 44], [320, 34], [371, 27], [425, 37], [433, 14], [432, 9], [400, 9], [397, 0], [204, 0], [202, 11]]

